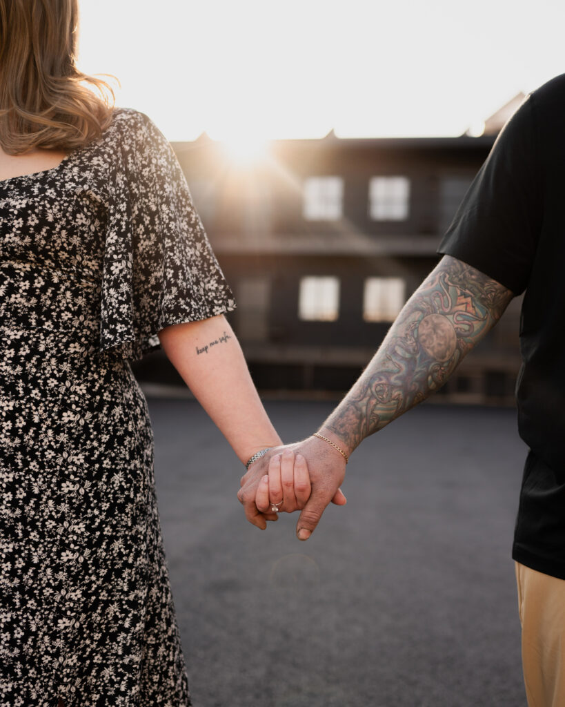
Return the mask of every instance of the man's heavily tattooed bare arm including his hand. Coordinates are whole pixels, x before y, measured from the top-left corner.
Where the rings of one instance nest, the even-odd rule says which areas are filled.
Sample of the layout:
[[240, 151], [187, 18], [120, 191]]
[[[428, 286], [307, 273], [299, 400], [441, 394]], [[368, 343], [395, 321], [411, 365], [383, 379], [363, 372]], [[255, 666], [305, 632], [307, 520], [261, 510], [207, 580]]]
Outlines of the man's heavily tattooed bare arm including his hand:
[[[480, 271], [444, 256], [405, 304], [364, 373], [319, 432], [350, 455], [364, 438], [438, 390], [512, 298], [511, 291]], [[300, 508], [288, 483], [292, 480], [288, 469], [297, 454], [299, 467], [306, 460], [311, 481], [311, 496], [297, 524], [299, 539], [307, 539], [343, 482], [345, 459], [314, 436], [290, 445], [282, 460], [276, 453], [281, 451], [274, 450], [250, 467], [239, 500], [251, 522], [252, 513], [269, 502], [283, 501], [282, 510]], [[268, 480], [261, 476], [267, 464]]]

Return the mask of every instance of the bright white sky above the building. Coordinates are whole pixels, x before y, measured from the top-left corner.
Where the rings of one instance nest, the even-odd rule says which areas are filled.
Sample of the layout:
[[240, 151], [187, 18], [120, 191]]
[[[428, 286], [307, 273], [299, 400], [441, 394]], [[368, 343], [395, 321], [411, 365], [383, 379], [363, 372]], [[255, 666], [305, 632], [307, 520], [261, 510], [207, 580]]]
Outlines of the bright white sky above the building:
[[169, 140], [452, 136], [565, 72], [563, 0], [80, 0], [78, 65]]

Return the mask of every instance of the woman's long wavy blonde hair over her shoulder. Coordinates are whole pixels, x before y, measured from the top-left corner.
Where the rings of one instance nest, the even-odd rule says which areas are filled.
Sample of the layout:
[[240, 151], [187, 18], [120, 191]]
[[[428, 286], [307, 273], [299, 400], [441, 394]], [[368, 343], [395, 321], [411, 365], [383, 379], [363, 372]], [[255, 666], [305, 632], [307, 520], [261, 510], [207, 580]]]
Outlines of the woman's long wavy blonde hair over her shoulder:
[[17, 155], [35, 148], [70, 152], [109, 126], [114, 91], [106, 81], [78, 71], [77, 40], [78, 0], [0, 0], [4, 152]]

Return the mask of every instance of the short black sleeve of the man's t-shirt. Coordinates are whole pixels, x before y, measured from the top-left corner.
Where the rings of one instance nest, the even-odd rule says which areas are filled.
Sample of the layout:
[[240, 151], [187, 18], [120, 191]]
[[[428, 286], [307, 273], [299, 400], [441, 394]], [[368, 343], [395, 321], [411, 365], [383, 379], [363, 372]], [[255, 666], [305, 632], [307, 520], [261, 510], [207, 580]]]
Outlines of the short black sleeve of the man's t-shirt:
[[438, 252], [520, 294], [528, 285], [541, 218], [535, 95], [530, 95], [496, 139]]

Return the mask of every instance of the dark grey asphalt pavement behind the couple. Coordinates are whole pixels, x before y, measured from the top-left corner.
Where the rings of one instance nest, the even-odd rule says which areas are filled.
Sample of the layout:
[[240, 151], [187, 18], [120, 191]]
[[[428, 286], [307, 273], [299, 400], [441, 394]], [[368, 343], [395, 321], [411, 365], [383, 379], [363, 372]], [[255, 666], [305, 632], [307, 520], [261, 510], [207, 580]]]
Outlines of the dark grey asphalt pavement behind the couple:
[[[524, 707], [511, 540], [516, 411], [424, 404], [365, 440], [347, 506], [261, 532], [198, 403], [150, 399], [165, 549], [195, 707]], [[268, 402], [285, 441], [321, 402]]]

